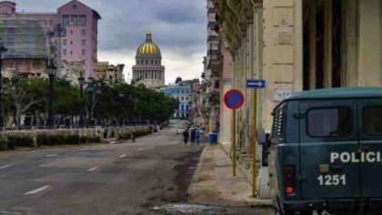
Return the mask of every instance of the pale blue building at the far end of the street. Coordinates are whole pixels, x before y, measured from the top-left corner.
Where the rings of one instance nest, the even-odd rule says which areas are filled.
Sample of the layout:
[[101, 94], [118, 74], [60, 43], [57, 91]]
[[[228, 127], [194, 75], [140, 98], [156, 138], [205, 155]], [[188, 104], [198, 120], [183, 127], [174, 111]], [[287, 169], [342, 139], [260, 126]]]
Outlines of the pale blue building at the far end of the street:
[[179, 101], [174, 118], [188, 118], [190, 111], [192, 86], [183, 82], [160, 88], [160, 92]]

